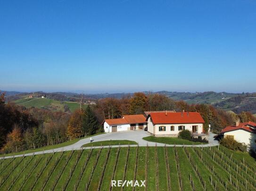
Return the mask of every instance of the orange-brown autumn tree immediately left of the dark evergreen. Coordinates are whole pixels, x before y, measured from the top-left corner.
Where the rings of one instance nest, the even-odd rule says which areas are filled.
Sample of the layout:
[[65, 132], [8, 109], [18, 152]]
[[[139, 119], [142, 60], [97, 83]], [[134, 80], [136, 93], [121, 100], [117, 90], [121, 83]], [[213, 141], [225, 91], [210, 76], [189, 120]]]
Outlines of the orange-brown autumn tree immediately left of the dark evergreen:
[[83, 111], [74, 111], [67, 126], [67, 135], [70, 139], [80, 138], [83, 135]]

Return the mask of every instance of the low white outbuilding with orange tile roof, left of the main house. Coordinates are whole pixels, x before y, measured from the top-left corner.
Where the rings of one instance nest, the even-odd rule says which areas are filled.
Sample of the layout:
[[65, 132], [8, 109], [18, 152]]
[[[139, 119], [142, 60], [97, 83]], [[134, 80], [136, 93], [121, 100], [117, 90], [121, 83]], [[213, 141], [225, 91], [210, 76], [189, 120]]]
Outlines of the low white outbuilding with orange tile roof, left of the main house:
[[147, 127], [147, 122], [144, 115], [124, 115], [120, 119], [106, 119], [104, 121], [105, 132], [143, 130], [145, 127]]

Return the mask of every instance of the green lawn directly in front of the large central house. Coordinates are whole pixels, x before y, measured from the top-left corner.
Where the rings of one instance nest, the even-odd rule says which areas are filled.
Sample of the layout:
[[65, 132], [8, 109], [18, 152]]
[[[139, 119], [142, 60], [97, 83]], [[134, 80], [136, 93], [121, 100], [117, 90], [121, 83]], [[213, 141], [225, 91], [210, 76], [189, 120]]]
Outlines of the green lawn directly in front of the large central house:
[[[200, 142], [192, 142], [186, 139], [182, 139], [182, 138], [160, 138], [160, 137], [155, 137], [155, 136], [149, 136], [149, 137], [145, 137], [143, 138], [146, 141], [151, 141], [151, 142], [157, 142], [157, 143], [165, 143], [165, 144], [169, 144], [169, 145], [201, 145], [202, 143]], [[203, 144], [207, 144], [207, 143], [203, 143]]]

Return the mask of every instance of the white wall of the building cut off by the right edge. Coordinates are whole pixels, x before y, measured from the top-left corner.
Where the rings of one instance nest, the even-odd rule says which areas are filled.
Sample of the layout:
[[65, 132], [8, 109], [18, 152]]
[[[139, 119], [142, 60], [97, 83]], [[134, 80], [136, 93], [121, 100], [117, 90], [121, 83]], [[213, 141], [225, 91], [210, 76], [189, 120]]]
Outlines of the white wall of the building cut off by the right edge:
[[248, 147], [252, 146], [256, 149], [256, 134], [255, 133], [250, 133], [246, 130], [233, 130], [224, 133], [224, 138], [226, 135], [233, 135], [234, 139], [240, 143], [245, 143], [248, 145]]

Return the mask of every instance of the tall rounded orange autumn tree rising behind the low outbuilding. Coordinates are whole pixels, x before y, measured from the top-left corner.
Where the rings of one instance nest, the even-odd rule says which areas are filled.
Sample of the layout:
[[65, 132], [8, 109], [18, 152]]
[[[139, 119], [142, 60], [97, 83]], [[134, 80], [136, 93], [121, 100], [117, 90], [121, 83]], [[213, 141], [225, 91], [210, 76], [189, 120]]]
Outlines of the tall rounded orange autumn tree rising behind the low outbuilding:
[[129, 113], [130, 114], [142, 114], [148, 110], [148, 98], [142, 92], [134, 93], [133, 97], [129, 101]]

